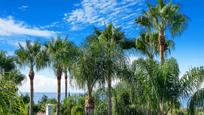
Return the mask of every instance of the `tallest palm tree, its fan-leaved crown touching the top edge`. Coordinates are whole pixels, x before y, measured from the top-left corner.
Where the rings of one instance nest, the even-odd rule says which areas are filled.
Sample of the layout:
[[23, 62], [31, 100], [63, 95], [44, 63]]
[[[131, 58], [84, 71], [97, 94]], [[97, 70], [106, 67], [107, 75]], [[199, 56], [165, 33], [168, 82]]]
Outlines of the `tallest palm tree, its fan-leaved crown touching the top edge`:
[[172, 0], [168, 4], [164, 0], [158, 0], [158, 4], [148, 5], [148, 10], [143, 15], [136, 18], [136, 23], [147, 28], [148, 31], [159, 33], [158, 41], [160, 46], [160, 61], [164, 61], [164, 50], [166, 35], [170, 32], [172, 36], [181, 34], [187, 25], [187, 17], [180, 12], [180, 6], [173, 4]]

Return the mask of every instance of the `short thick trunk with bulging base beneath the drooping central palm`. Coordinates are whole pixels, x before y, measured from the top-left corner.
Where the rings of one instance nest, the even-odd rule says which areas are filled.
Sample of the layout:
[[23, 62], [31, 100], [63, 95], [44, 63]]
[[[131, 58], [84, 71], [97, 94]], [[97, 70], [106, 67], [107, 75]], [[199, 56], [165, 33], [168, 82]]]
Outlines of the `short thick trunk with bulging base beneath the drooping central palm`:
[[94, 99], [92, 97], [92, 87], [88, 86], [88, 97], [85, 100], [85, 115], [94, 115]]

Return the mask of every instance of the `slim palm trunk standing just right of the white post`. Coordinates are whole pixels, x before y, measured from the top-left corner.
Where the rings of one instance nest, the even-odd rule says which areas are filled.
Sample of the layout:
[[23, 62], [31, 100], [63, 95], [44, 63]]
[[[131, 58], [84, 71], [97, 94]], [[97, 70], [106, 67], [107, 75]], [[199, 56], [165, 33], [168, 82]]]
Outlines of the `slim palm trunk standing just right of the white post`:
[[62, 75], [62, 72], [58, 70], [57, 71], [57, 115], [60, 115], [61, 75]]

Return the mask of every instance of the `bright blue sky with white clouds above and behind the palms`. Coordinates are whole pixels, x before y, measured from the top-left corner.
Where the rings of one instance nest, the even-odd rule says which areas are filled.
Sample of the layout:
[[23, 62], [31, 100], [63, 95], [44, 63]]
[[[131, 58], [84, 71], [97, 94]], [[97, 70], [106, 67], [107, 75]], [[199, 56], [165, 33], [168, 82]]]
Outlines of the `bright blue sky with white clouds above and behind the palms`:
[[[44, 42], [57, 35], [68, 35], [70, 40], [79, 45], [94, 27], [104, 28], [108, 23], [121, 27], [128, 38], [135, 38], [140, 28], [134, 19], [145, 10], [145, 1], [1, 0], [0, 50], [12, 55], [18, 43], [24, 44], [25, 40]], [[178, 60], [181, 73], [184, 73], [191, 67], [204, 65], [204, 1], [173, 2], [179, 3], [181, 11], [190, 19], [183, 34], [174, 38], [176, 48], [171, 54]], [[27, 74], [27, 68], [23, 68], [22, 72]], [[54, 86], [48, 88], [44, 85], [44, 81], [48, 80], [50, 84], [55, 83], [50, 68], [39, 71], [36, 76], [36, 82], [41, 81], [35, 84], [36, 91], [56, 91]], [[27, 81], [23, 83], [21, 91], [28, 91]]]

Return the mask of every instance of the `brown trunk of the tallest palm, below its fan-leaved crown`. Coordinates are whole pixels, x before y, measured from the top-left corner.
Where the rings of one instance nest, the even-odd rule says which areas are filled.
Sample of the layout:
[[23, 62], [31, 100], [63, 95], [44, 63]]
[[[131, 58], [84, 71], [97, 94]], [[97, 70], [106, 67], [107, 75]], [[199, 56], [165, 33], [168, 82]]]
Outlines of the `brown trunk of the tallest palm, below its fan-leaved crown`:
[[159, 45], [160, 45], [160, 61], [164, 62], [164, 49], [165, 49], [165, 36], [164, 31], [161, 30], [159, 33]]

